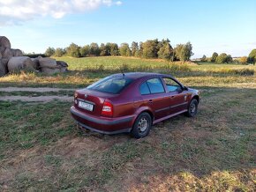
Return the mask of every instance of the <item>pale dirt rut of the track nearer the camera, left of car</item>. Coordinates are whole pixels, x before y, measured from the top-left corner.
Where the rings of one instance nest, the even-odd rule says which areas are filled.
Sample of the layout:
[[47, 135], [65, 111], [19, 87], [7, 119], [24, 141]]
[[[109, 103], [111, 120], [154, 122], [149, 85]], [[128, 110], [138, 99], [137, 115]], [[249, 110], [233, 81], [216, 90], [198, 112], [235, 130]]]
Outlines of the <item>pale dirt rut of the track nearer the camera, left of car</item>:
[[0, 100], [13, 101], [21, 100], [26, 102], [49, 102], [52, 100], [72, 101], [73, 97], [68, 96], [39, 96], [39, 97], [28, 97], [28, 96], [3, 96]]

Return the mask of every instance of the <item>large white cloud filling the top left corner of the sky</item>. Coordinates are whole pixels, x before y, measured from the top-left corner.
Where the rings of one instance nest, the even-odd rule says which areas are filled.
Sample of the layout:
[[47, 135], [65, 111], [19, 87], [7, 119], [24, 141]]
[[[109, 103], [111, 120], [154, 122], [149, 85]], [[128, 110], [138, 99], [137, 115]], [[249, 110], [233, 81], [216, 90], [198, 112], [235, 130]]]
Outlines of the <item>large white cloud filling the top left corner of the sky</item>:
[[0, 0], [0, 26], [19, 24], [41, 16], [63, 18], [66, 14], [121, 4], [121, 1], [112, 0]]

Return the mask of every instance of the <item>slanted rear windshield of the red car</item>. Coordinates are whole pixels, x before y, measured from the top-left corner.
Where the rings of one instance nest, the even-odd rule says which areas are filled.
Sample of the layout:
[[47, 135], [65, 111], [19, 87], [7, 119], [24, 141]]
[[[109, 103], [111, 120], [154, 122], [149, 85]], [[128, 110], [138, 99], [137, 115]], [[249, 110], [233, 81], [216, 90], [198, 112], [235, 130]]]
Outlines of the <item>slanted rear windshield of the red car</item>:
[[87, 86], [87, 89], [98, 92], [120, 93], [124, 88], [132, 83], [131, 78], [103, 78], [96, 83]]

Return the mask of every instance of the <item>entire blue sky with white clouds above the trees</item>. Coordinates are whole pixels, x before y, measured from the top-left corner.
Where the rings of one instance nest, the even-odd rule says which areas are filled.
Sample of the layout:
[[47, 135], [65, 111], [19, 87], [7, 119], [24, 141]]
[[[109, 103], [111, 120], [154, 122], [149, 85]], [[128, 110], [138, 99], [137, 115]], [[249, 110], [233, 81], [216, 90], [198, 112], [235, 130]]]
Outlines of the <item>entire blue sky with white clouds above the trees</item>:
[[190, 41], [192, 58], [244, 56], [256, 48], [256, 0], [0, 0], [0, 36], [25, 53], [168, 38]]

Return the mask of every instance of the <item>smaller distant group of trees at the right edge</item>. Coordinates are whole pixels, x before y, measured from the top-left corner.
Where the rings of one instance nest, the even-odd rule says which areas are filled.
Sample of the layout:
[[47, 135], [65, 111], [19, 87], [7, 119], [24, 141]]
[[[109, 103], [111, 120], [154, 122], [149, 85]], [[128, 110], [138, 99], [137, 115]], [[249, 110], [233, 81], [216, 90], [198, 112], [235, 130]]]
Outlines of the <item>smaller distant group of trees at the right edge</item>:
[[201, 62], [210, 62], [210, 63], [256, 63], [256, 49], [253, 49], [251, 53], [248, 56], [242, 56], [238, 60], [235, 60], [232, 58], [231, 55], [227, 55], [225, 53], [222, 53], [218, 55], [216, 52], [213, 53], [211, 57], [207, 57], [206, 55], [203, 55], [202, 58], [200, 58]]

